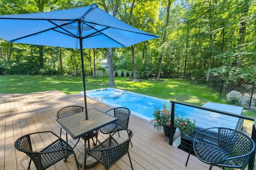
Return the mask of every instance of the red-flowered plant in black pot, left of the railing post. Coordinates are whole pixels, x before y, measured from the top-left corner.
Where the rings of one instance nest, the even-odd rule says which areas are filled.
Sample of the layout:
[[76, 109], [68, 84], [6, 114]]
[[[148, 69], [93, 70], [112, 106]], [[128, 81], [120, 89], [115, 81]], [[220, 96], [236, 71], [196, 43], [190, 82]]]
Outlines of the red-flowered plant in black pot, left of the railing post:
[[[170, 125], [171, 125], [171, 104], [164, 102], [163, 107], [156, 107], [153, 111], [154, 119], [151, 120], [150, 124], [154, 126], [157, 131], [164, 129], [164, 134], [169, 137], [170, 135]], [[178, 121], [174, 118], [174, 129], [173, 133], [176, 131], [178, 126]]]

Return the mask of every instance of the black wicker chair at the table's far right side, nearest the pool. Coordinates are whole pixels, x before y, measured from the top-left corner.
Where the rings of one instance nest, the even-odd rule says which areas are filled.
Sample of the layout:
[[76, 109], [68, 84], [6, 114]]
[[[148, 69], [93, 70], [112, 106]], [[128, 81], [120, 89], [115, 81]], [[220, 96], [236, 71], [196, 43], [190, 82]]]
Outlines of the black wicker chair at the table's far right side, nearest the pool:
[[[110, 123], [109, 125], [106, 125], [102, 128], [100, 128], [101, 133], [103, 134], [110, 134], [112, 132], [115, 132], [120, 129], [128, 129], [128, 124], [129, 124], [129, 118], [130, 118], [130, 114], [131, 111], [130, 109], [126, 108], [126, 107], [116, 107], [113, 109], [110, 109], [108, 111], [114, 110], [114, 116], [118, 118], [118, 121], [114, 122], [114, 123]], [[108, 112], [106, 111], [106, 113]], [[127, 130], [128, 133], [128, 130]], [[98, 132], [96, 133], [98, 135]], [[120, 137], [120, 134], [118, 132], [118, 136]], [[97, 142], [96, 142], [97, 143]], [[131, 141], [131, 145], [132, 145], [132, 141]]]

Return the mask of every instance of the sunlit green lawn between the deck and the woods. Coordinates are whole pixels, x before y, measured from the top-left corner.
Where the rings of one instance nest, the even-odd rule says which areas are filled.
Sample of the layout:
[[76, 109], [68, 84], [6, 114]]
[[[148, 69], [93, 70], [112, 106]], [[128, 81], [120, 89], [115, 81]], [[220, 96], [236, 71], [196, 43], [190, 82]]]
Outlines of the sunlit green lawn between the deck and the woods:
[[[164, 82], [129, 82], [127, 77], [115, 78], [114, 88], [136, 92], [161, 99], [171, 99], [202, 106], [206, 102], [225, 103], [219, 93], [200, 84], [190, 84], [184, 79], [165, 79]], [[66, 94], [81, 92], [82, 78], [72, 76], [0, 76], [0, 93], [32, 93], [47, 90], [59, 90]], [[110, 87], [108, 78], [86, 78], [86, 90]]]

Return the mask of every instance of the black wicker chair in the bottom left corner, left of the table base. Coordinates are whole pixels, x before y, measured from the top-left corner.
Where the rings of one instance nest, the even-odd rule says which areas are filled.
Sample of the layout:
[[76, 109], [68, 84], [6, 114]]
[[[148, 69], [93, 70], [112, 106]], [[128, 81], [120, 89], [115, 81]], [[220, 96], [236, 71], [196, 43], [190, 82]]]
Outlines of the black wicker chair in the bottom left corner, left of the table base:
[[[39, 133], [52, 133], [58, 139], [44, 149], [40, 150], [40, 152], [36, 152], [32, 150], [32, 142], [30, 136]], [[63, 139], [61, 139], [51, 131], [36, 132], [24, 135], [16, 140], [14, 146], [17, 150], [26, 153], [30, 157], [28, 170], [30, 168], [31, 161], [34, 162], [36, 169], [44, 170], [46, 168], [49, 168], [56, 162], [59, 162], [60, 160], [66, 158], [70, 154], [74, 154], [74, 158], [76, 160], [76, 154], [74, 153], [74, 149], [70, 145], [68, 145], [68, 143], [66, 143]], [[76, 166], [79, 170], [77, 160]]]

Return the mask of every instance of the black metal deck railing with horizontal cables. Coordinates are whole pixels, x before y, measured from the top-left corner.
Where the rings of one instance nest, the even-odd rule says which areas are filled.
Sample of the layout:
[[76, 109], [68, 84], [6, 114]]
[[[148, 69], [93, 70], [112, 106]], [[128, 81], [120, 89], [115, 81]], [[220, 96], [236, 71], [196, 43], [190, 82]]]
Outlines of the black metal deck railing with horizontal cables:
[[[170, 102], [171, 102], [171, 106], [172, 106], [171, 107], [172, 115], [171, 115], [169, 145], [177, 146], [177, 143], [178, 143], [179, 149], [182, 149], [182, 150], [188, 152], [191, 147], [192, 140], [194, 139], [194, 136], [197, 133], [197, 131], [200, 129], [208, 128], [208, 127], [215, 127], [214, 124], [218, 125], [218, 127], [228, 127], [231, 129], [236, 129], [238, 131], [242, 131], [242, 133], [245, 133], [249, 137], [251, 137], [253, 139], [254, 143], [256, 142], [256, 128], [255, 128], [256, 119], [254, 117], [249, 117], [249, 116], [242, 115], [242, 114], [239, 115], [239, 114], [229, 113], [229, 112], [215, 110], [215, 109], [209, 109], [209, 108], [201, 107], [201, 106], [194, 106], [194, 105], [185, 104], [182, 102], [176, 102], [176, 101], [170, 101]], [[178, 114], [178, 113], [175, 113], [175, 109], [174, 109], [176, 104], [188, 106], [193, 109], [194, 108], [198, 109], [198, 111], [197, 110], [194, 111], [194, 112], [197, 112], [196, 116], [193, 117], [190, 115], [190, 117], [189, 117], [191, 119], [191, 121], [194, 121], [193, 119], [196, 119], [196, 129], [194, 129], [193, 133], [190, 133], [189, 135], [184, 135], [184, 134], [182, 134], [182, 132], [178, 132], [181, 135], [181, 137], [179, 138], [180, 141], [177, 141], [176, 136], [174, 138], [174, 133], [173, 133], [174, 119], [175, 119], [174, 117], [175, 117], [175, 114]], [[202, 113], [203, 112], [202, 110], [205, 111], [205, 113]], [[206, 120], [206, 119], [202, 118], [205, 116], [212, 117], [212, 119]], [[218, 122], [214, 122], [216, 120]], [[234, 126], [234, 123], [235, 123], [235, 126]], [[230, 124], [233, 125], [233, 128], [229, 127]], [[198, 125], [200, 125], [200, 127]], [[205, 128], [204, 128], [204, 125], [205, 125]], [[248, 164], [248, 170], [254, 169], [254, 164], [255, 164], [255, 151], [254, 151], [253, 156], [250, 158], [250, 161]]]

